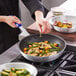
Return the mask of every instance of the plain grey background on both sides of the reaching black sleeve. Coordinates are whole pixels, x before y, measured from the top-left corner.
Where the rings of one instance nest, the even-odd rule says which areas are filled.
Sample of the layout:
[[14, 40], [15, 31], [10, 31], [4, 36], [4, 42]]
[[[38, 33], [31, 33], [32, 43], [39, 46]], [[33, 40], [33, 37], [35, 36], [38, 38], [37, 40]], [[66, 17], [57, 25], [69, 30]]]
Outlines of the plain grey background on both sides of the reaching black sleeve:
[[[66, 0], [42, 0], [43, 5], [50, 11], [50, 8], [59, 6], [60, 4], [64, 3]], [[20, 8], [21, 8], [21, 17], [22, 17], [22, 24], [24, 28], [31, 25], [34, 20], [31, 18], [30, 12], [24, 6], [24, 4], [19, 0]]]

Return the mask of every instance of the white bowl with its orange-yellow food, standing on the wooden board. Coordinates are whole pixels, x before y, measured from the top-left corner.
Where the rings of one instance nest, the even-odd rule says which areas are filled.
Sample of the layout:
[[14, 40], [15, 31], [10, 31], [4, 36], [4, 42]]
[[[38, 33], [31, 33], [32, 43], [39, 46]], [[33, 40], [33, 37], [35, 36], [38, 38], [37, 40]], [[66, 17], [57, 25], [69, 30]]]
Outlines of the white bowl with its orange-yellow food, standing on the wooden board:
[[68, 15], [54, 16], [49, 20], [52, 28], [62, 33], [76, 32], [76, 17]]

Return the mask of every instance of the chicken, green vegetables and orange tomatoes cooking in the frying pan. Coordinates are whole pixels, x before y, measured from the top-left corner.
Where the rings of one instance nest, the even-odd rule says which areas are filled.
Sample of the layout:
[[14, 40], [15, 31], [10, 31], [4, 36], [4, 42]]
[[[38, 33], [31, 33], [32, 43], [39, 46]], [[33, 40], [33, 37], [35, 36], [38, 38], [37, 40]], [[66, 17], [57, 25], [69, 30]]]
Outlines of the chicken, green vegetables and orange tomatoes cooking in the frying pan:
[[60, 51], [59, 44], [50, 43], [49, 41], [43, 42], [31, 42], [27, 43], [28, 47], [25, 47], [24, 53], [31, 56], [46, 57], [57, 54]]

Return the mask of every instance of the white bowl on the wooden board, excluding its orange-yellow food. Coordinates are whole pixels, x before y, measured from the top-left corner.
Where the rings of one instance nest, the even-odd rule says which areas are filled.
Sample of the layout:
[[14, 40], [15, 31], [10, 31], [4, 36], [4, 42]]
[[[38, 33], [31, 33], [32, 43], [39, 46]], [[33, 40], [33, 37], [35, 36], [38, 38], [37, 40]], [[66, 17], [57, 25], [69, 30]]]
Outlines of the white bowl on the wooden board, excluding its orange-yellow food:
[[[71, 22], [72, 28], [62, 28], [54, 25], [55, 21], [60, 21], [62, 23], [64, 22]], [[74, 16], [67, 16], [67, 15], [61, 15], [61, 16], [54, 16], [52, 19], [49, 20], [49, 23], [52, 25], [53, 29], [58, 32], [63, 33], [75, 33], [76, 32], [76, 17]]]

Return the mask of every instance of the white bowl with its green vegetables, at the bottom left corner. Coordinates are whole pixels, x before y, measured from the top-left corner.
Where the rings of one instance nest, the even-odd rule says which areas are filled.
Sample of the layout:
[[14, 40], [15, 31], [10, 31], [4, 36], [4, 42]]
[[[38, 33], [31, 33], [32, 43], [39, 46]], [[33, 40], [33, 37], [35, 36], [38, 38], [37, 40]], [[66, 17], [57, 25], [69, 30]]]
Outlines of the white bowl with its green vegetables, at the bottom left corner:
[[11, 62], [0, 65], [0, 76], [36, 76], [38, 70], [31, 64]]

